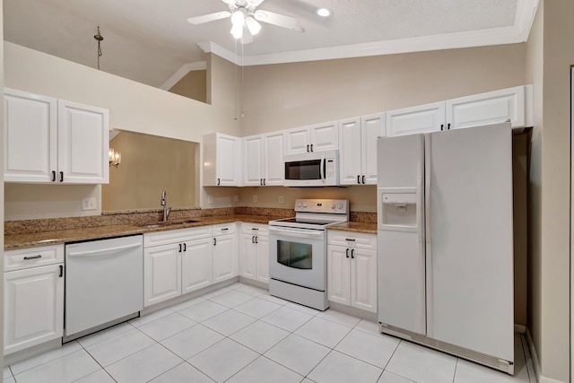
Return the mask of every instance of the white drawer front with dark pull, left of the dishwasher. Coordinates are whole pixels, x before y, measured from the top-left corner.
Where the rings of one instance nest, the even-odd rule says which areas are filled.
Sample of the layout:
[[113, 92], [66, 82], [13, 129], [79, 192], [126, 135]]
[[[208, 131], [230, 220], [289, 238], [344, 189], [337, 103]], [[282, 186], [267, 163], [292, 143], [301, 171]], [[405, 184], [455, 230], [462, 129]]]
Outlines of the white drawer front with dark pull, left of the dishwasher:
[[64, 245], [4, 251], [4, 272], [64, 262]]

